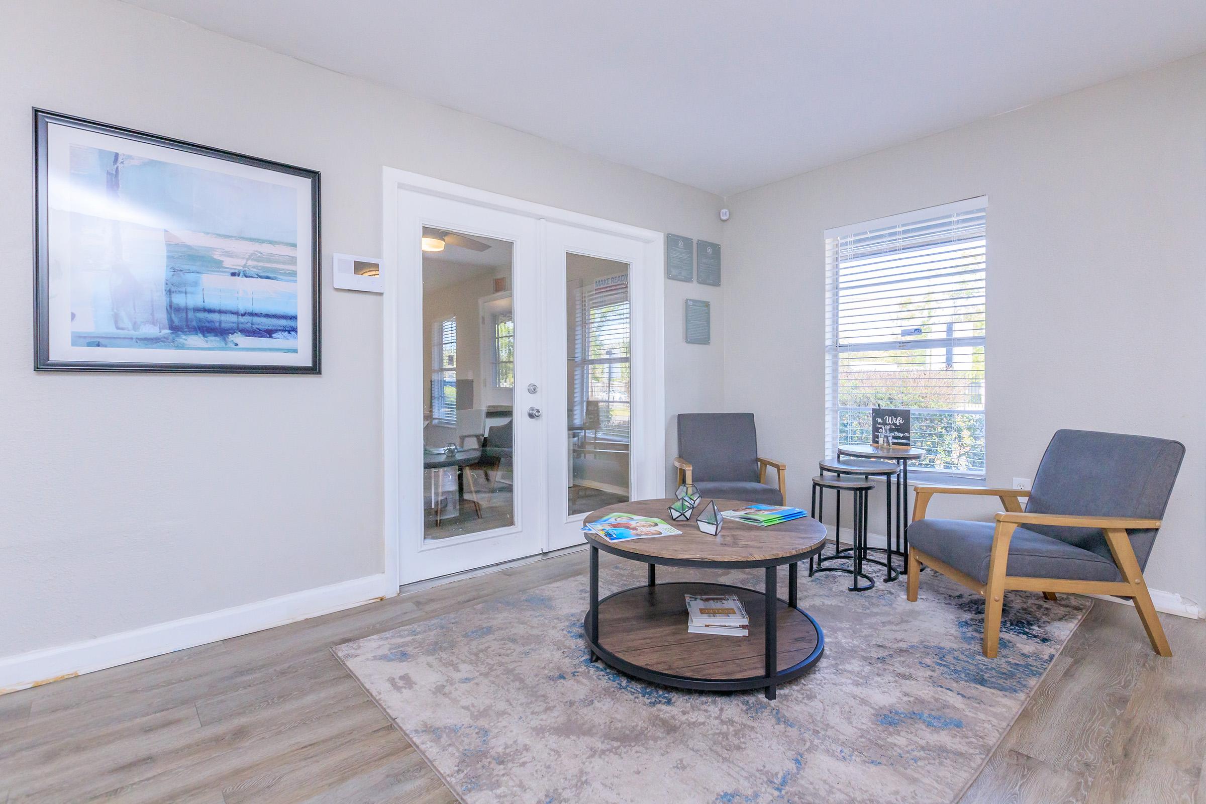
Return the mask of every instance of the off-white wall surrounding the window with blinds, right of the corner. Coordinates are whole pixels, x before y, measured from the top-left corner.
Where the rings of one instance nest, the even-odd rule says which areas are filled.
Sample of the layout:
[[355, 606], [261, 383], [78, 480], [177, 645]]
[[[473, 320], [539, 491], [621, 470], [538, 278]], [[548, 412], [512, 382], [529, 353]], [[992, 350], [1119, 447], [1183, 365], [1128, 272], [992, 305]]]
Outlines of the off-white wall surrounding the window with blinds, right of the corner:
[[1061, 427], [1183, 441], [1147, 577], [1206, 601], [1204, 98], [1199, 55], [730, 199], [725, 404], [791, 500], [824, 448], [822, 230], [988, 195], [988, 482]]

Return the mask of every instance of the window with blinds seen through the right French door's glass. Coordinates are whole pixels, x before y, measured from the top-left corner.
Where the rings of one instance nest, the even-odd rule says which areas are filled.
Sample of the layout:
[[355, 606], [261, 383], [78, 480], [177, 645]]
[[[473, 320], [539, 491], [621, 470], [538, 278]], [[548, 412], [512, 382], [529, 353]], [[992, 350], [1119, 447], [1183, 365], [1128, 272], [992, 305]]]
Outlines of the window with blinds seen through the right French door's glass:
[[578, 306], [570, 342], [573, 423], [627, 442], [632, 432], [627, 274], [596, 280], [579, 295]]

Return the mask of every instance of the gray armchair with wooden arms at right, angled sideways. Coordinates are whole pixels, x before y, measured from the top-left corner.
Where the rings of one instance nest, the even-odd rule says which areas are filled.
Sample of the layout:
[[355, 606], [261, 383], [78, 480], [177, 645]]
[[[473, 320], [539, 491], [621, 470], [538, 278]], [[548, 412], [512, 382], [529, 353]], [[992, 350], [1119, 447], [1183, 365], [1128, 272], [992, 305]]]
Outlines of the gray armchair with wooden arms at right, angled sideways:
[[[1112, 594], [1135, 601], [1152, 647], [1172, 656], [1143, 581], [1160, 518], [1181, 470], [1179, 441], [1059, 430], [1031, 491], [918, 487], [908, 527], [908, 599], [920, 564], [984, 595], [984, 656], [996, 656], [1012, 589]], [[999, 497], [995, 522], [925, 518], [935, 494]], [[1020, 498], [1029, 498], [1023, 511]]]

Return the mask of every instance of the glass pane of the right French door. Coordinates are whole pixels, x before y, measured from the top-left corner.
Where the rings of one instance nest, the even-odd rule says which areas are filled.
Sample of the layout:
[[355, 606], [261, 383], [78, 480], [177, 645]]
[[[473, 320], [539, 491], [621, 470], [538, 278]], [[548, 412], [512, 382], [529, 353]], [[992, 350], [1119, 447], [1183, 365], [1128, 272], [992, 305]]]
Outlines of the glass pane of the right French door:
[[566, 254], [569, 516], [630, 499], [628, 264]]

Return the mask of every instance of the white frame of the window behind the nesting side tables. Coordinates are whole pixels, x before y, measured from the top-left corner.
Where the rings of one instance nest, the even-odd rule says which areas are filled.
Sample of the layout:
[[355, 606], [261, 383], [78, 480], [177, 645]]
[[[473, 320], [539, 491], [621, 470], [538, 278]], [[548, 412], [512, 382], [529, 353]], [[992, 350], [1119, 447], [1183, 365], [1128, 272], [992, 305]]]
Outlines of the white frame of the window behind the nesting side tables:
[[[913, 409], [914, 411], [925, 412], [953, 412], [953, 413], [968, 413], [978, 412], [984, 419], [984, 468], [983, 470], [973, 471], [958, 471], [950, 469], [930, 469], [917, 466], [915, 464], [909, 466], [909, 475], [921, 482], [933, 482], [933, 481], [955, 481], [964, 485], [984, 485], [988, 476], [989, 466], [989, 446], [988, 446], [988, 288], [989, 288], [989, 271], [988, 271], [988, 196], [980, 195], [976, 198], [968, 198], [960, 201], [954, 201], [950, 204], [942, 204], [938, 206], [924, 207], [919, 210], [912, 210], [909, 212], [902, 212], [898, 215], [892, 215], [883, 218], [876, 218], [872, 221], [863, 221], [859, 223], [853, 223], [849, 225], [836, 227], [832, 229], [826, 229], [824, 231], [824, 243], [825, 243], [825, 447], [827, 454], [835, 454], [837, 446], [839, 444], [841, 433], [841, 419], [843, 411], [870, 411], [870, 407], [861, 406], [847, 406], [843, 407], [838, 404], [839, 400], [839, 368], [842, 354], [860, 353], [860, 352], [890, 352], [890, 351], [920, 351], [920, 350], [953, 350], [960, 347], [980, 347], [984, 356], [984, 385], [982, 388], [983, 393], [983, 411], [966, 411], [966, 410], [948, 410], [948, 409]], [[976, 210], [984, 210], [984, 319], [985, 327], [983, 334], [980, 335], [967, 335], [967, 336], [953, 336], [953, 338], [919, 338], [919, 339], [897, 339], [897, 340], [883, 340], [874, 342], [854, 342], [841, 345], [838, 342], [838, 327], [839, 327], [839, 265], [837, 258], [837, 243], [838, 241], [848, 235], [861, 234], [876, 229], [885, 229], [895, 225], [907, 225], [912, 223], [918, 223], [921, 221], [927, 221], [932, 218], [942, 218], [946, 216], [954, 216], [964, 212], [971, 212]]]

